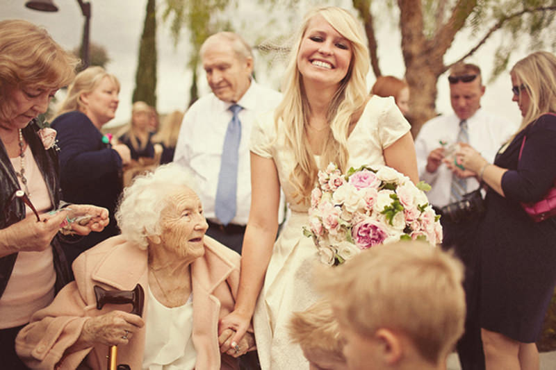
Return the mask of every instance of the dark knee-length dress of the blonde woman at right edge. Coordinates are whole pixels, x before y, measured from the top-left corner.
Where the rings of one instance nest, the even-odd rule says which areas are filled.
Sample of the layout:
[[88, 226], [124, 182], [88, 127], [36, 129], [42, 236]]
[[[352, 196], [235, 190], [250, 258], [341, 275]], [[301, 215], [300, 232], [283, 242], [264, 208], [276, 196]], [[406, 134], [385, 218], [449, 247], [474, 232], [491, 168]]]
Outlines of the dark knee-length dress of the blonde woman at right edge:
[[[518, 160], [526, 135], [521, 160]], [[520, 201], [539, 201], [556, 178], [556, 116], [543, 115], [496, 155], [505, 197], [489, 189], [480, 227], [480, 319], [487, 330], [531, 343], [556, 284], [556, 218], [536, 223]]]

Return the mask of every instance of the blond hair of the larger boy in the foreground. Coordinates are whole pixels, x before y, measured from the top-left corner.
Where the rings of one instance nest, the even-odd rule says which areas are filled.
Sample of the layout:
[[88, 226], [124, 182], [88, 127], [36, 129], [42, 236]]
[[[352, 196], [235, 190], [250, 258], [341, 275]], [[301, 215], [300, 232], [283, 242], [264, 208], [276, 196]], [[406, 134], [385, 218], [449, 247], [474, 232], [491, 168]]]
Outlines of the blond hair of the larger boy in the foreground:
[[369, 338], [379, 328], [403, 333], [433, 364], [464, 332], [463, 265], [430, 244], [373, 246], [318, 280], [341, 326]]

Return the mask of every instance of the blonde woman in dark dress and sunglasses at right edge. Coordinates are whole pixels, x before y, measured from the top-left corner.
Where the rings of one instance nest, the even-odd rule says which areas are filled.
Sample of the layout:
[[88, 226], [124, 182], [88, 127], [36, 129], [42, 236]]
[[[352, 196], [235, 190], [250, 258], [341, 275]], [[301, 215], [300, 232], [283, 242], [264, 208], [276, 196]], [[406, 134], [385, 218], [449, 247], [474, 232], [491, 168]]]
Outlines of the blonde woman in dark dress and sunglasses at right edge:
[[556, 56], [538, 51], [510, 72], [523, 120], [494, 163], [466, 147], [461, 163], [482, 179], [481, 336], [486, 369], [539, 369], [535, 340], [556, 285], [556, 218], [532, 219], [556, 179]]

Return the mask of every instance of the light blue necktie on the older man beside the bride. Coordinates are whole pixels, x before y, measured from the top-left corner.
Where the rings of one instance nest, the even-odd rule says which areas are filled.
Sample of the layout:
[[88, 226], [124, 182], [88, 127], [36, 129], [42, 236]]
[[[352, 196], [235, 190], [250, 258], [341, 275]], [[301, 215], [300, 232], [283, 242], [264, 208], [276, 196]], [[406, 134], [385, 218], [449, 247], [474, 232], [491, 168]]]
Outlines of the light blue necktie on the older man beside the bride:
[[215, 215], [222, 225], [226, 226], [236, 216], [236, 194], [238, 190], [238, 152], [241, 140], [241, 122], [238, 113], [241, 108], [234, 104], [228, 108], [234, 114], [231, 118], [220, 160], [220, 174], [216, 188]]

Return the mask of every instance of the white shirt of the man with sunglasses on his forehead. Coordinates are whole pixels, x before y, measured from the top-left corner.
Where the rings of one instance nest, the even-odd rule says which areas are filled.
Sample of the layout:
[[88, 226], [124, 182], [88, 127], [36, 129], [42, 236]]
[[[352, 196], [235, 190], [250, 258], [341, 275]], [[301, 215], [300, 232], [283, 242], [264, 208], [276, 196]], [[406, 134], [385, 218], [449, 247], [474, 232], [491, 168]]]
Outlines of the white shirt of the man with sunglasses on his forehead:
[[[434, 173], [428, 172], [426, 169], [427, 157], [431, 151], [442, 146], [441, 141], [445, 143], [445, 147], [457, 142], [459, 121], [461, 119], [455, 114], [434, 117], [423, 125], [415, 140], [419, 177], [431, 185], [432, 190], [427, 193], [427, 196], [430, 203], [436, 207], [443, 207], [450, 203], [452, 171], [445, 164], [441, 164]], [[517, 130], [517, 125], [491, 115], [481, 108], [475, 112], [473, 117], [467, 119], [467, 127], [468, 144], [491, 163], [500, 146], [507, 142]], [[479, 183], [475, 176], [468, 177], [468, 192], [472, 192], [477, 187], [479, 187]]]

